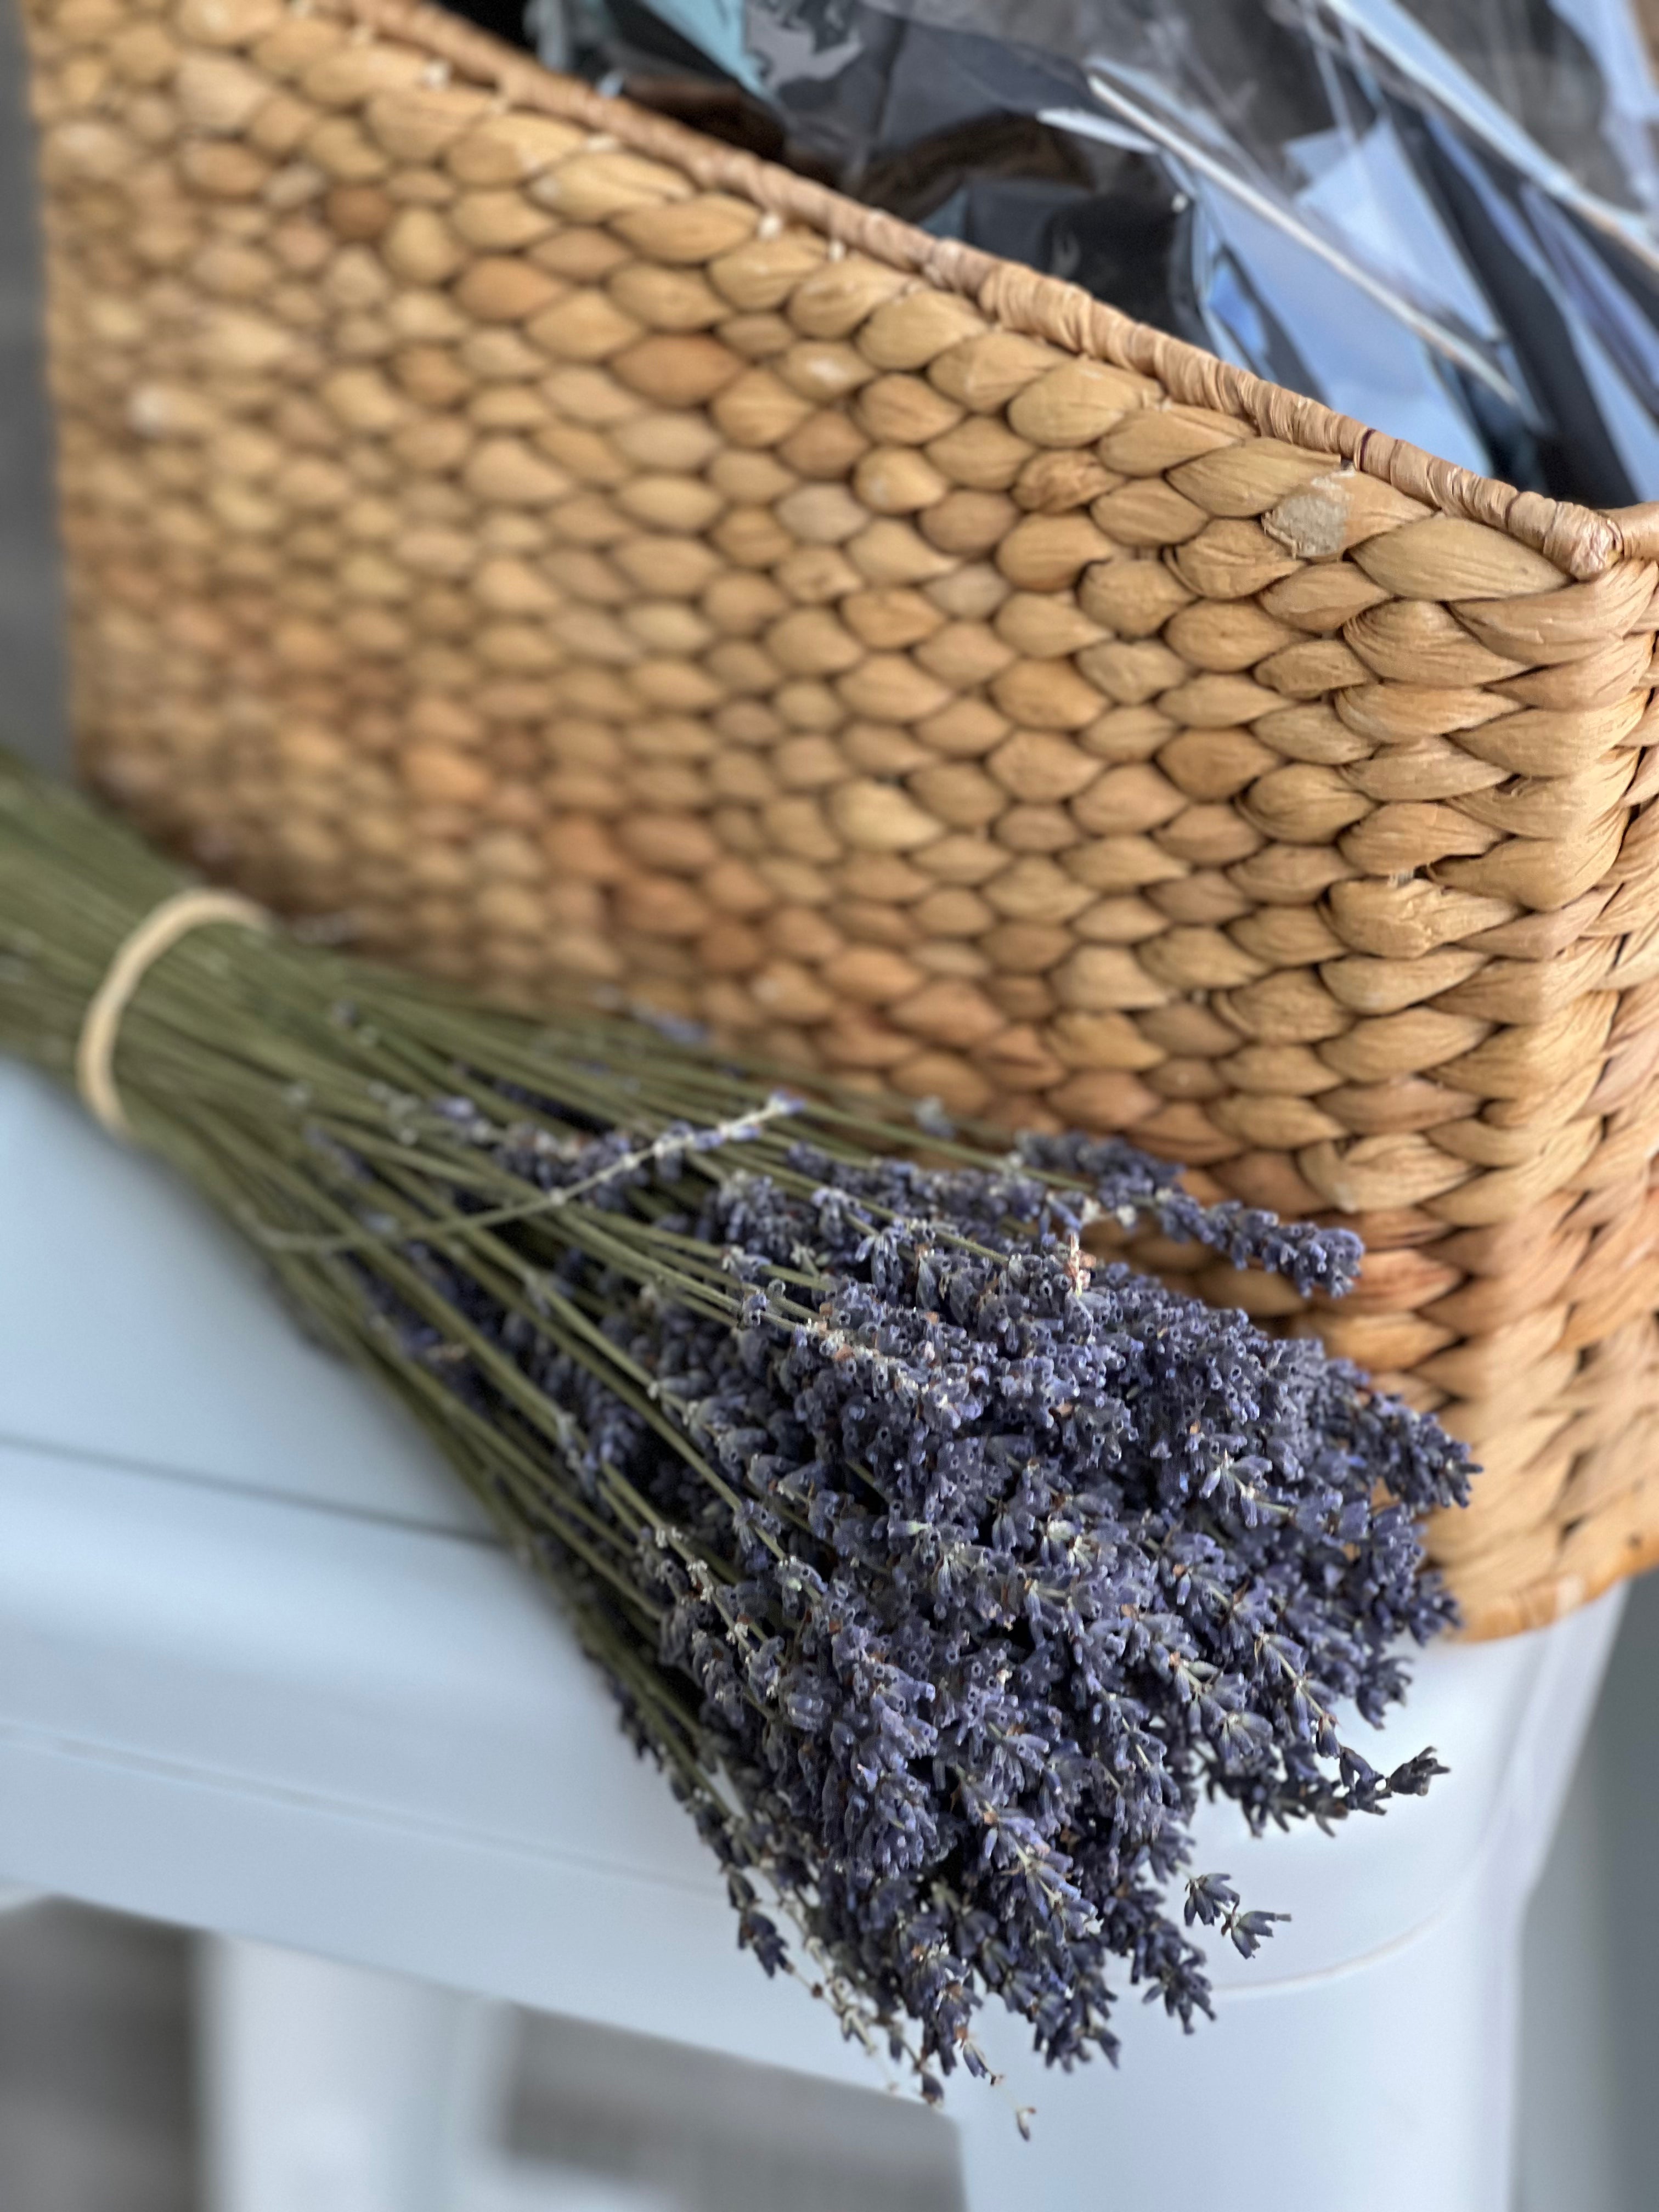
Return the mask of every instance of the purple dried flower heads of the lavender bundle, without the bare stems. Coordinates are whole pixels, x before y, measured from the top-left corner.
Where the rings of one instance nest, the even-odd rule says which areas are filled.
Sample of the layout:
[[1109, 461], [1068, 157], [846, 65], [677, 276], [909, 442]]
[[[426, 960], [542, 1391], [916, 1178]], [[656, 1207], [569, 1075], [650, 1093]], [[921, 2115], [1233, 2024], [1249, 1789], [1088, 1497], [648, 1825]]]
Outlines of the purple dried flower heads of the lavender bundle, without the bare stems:
[[[695, 1688], [681, 1787], [739, 1938], [785, 1964], [759, 1880], [940, 2073], [978, 2068], [987, 1993], [1062, 2064], [1115, 2053], [1115, 1975], [1190, 2024], [1208, 1980], [1166, 1896], [1199, 1794], [1254, 1827], [1329, 1825], [1436, 1772], [1378, 1774], [1336, 1708], [1378, 1721], [1400, 1635], [1451, 1617], [1416, 1513], [1464, 1495], [1464, 1451], [1310, 1338], [1082, 1245], [1102, 1214], [1150, 1214], [1340, 1292], [1343, 1232], [1206, 1210], [1121, 1144], [929, 1170], [794, 1141], [763, 1172], [719, 1157], [745, 1135], [542, 1159], [549, 1194], [584, 1190], [604, 1228], [555, 1206], [568, 1243], [540, 1314], [422, 1252], [557, 1411], [584, 1504], [630, 1535], [657, 1679]], [[529, 1168], [515, 1133], [495, 1152]], [[695, 1283], [628, 1259], [641, 1217], [661, 1254], [697, 1254]], [[367, 1267], [363, 1287], [385, 1298]], [[476, 1358], [445, 1378], [511, 1425]], [[1188, 1885], [1188, 1927], [1245, 1955], [1274, 1918], [1225, 1878]]]

